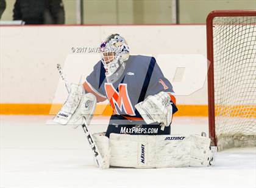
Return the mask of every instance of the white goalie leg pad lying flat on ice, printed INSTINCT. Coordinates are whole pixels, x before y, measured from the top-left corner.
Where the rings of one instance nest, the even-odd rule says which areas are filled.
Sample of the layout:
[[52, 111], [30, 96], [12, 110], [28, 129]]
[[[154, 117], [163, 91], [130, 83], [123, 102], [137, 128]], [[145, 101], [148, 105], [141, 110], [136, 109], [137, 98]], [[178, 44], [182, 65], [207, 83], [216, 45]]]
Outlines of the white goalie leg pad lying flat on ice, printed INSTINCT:
[[210, 139], [199, 135], [110, 134], [110, 166], [205, 167], [211, 156]]

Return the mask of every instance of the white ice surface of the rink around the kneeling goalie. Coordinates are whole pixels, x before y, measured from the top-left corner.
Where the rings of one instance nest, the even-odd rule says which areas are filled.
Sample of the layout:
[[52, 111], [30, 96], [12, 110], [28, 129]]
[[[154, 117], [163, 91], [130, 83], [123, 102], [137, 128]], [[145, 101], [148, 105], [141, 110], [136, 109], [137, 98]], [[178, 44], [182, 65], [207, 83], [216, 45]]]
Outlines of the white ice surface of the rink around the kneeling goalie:
[[[100, 170], [83, 130], [52, 116], [1, 116], [1, 187], [256, 187], [256, 150], [219, 152], [215, 167]], [[107, 119], [93, 119], [93, 132]], [[207, 132], [207, 118], [174, 117], [172, 133]]]

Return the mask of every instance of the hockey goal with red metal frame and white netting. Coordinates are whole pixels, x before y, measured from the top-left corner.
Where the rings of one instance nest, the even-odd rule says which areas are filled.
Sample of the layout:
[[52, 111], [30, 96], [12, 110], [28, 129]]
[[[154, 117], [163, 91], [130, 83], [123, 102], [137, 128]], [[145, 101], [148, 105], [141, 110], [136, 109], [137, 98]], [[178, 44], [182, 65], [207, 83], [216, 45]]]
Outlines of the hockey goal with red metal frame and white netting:
[[256, 10], [207, 17], [209, 135], [219, 150], [255, 147]]

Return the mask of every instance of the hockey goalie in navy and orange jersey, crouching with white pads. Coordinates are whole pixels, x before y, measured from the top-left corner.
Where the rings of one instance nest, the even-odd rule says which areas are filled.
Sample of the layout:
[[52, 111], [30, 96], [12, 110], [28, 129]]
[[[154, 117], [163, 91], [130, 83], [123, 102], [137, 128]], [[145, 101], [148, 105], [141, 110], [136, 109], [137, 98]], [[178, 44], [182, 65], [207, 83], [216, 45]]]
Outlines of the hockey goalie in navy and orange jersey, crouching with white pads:
[[[125, 39], [110, 35], [101, 44], [101, 60], [83, 85], [71, 84], [54, 121], [84, 125], [98, 164], [110, 166], [206, 167], [215, 150], [205, 135], [171, 135], [177, 112], [172, 85], [152, 56], [129, 55]], [[96, 102], [113, 108], [106, 132], [88, 132]], [[86, 126], [85, 126], [86, 125]]]

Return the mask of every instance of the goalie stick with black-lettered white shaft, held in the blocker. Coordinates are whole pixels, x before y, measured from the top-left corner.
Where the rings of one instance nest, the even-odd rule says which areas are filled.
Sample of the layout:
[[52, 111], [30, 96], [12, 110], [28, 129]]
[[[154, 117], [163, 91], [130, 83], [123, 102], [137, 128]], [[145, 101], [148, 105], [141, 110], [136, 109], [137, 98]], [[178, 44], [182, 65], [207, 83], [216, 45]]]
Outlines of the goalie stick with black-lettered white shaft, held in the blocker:
[[[60, 67], [60, 64], [57, 64], [57, 69], [60, 73], [60, 76], [62, 77], [62, 81], [65, 82], [65, 86], [66, 86], [66, 89], [68, 90], [68, 93], [70, 92], [70, 89], [69, 89], [69, 84], [68, 84], [68, 81], [66, 81], [66, 78], [65, 76], [63, 75], [63, 72], [62, 72], [62, 67]], [[83, 117], [83, 123], [82, 123], [82, 128], [85, 132], [85, 136], [86, 138], [88, 139], [88, 143], [91, 147], [91, 150], [93, 150], [93, 156], [94, 156], [94, 159], [96, 161], [96, 164], [98, 165], [98, 167], [100, 167], [101, 169], [104, 169], [104, 161], [103, 161], [103, 158], [101, 156], [101, 153], [99, 152], [98, 150], [98, 147], [96, 146], [96, 144], [94, 143], [94, 140], [93, 140], [93, 136], [91, 135], [91, 133], [89, 132], [88, 130], [88, 125], [86, 123], [86, 119], [85, 117]]]

